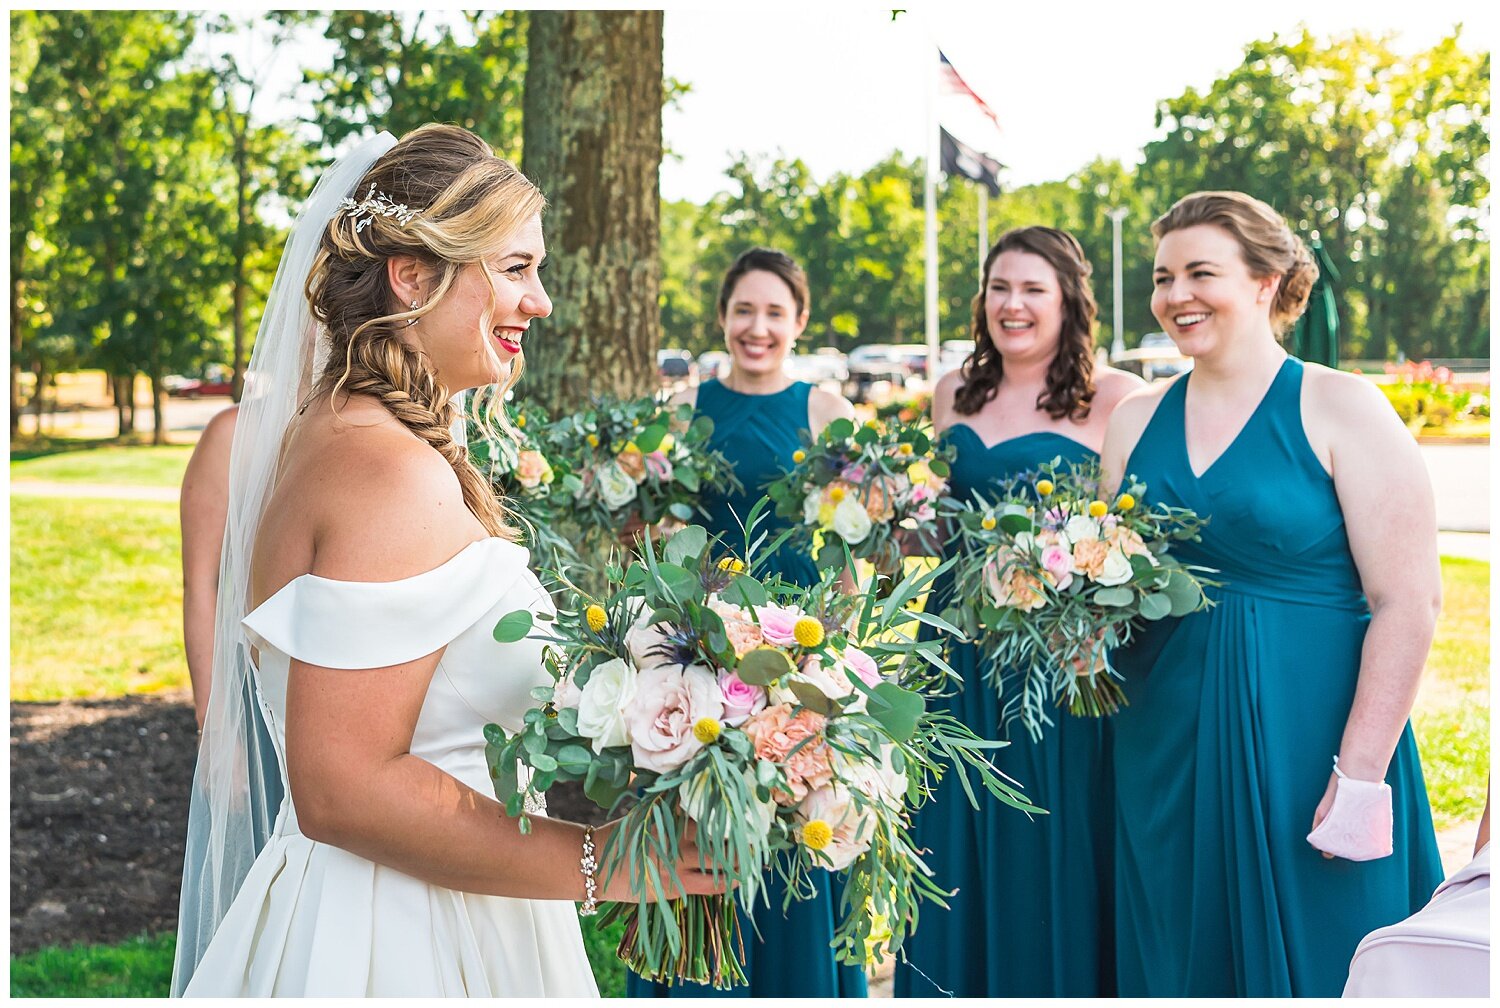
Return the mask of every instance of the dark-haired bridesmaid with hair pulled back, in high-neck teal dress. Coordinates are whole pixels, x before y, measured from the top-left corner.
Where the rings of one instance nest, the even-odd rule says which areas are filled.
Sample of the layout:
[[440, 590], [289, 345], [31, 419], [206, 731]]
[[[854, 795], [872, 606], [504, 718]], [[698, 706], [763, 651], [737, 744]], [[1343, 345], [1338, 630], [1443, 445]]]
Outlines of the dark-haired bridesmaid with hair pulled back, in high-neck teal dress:
[[[700, 416], [714, 422], [710, 447], [723, 452], [735, 466], [744, 486], [740, 494], [710, 490], [705, 508], [710, 518], [704, 526], [711, 536], [722, 536], [724, 546], [744, 550], [741, 522], [752, 506], [765, 496], [766, 488], [792, 468], [792, 453], [801, 447], [800, 432], [819, 434], [831, 420], [854, 418], [854, 406], [843, 396], [814, 388], [806, 381], [792, 381], [783, 364], [796, 338], [807, 327], [807, 274], [790, 256], [772, 249], [744, 252], [718, 288], [718, 324], [724, 330], [730, 369], [724, 378], [712, 378], [678, 393], [674, 402], [693, 405]], [[768, 538], [788, 526], [774, 512], [766, 512], [760, 531]], [[780, 549], [765, 568], [770, 574], [812, 585], [818, 567], [807, 554]], [[760, 568], [758, 568], [760, 573]], [[771, 906], [758, 904], [754, 927], [741, 915], [746, 940], [747, 987], [712, 990], [699, 984], [668, 986], [642, 980], [632, 974], [627, 993], [632, 998], [864, 998], [866, 976], [861, 966], [842, 966], [828, 944], [834, 936], [840, 880], [818, 873], [822, 888], [819, 898], [792, 903], [782, 914], [783, 886], [770, 879]]]

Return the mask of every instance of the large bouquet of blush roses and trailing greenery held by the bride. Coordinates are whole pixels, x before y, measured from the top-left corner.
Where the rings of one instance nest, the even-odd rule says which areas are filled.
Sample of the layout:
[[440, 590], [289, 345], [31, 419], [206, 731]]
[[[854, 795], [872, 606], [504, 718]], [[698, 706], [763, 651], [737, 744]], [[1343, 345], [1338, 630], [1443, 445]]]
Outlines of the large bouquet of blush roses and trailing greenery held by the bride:
[[[622, 810], [600, 873], [624, 873], [642, 897], [606, 910], [626, 921], [620, 957], [642, 976], [744, 982], [735, 903], [768, 903], [766, 872], [786, 880], [783, 909], [814, 896], [814, 872], [846, 872], [832, 946], [849, 963], [866, 962], [867, 942], [894, 952], [918, 902], [942, 904], [909, 834], [933, 778], [951, 768], [976, 801], [972, 772], [1000, 801], [1040, 812], [986, 759], [1000, 742], [928, 711], [912, 688], [940, 663], [939, 642], [902, 626], [946, 627], [908, 609], [938, 572], [878, 602], [840, 592], [832, 572], [796, 588], [756, 578], [753, 556], [716, 555], [698, 525], [664, 544], [648, 534], [627, 568], [612, 564], [606, 597], [558, 612], [543, 632], [555, 682], [532, 692], [518, 734], [484, 729], [495, 794], [522, 828], [528, 798], [561, 780]], [[518, 610], [495, 634], [532, 632]], [[702, 868], [729, 892], [672, 898], [690, 825]]]

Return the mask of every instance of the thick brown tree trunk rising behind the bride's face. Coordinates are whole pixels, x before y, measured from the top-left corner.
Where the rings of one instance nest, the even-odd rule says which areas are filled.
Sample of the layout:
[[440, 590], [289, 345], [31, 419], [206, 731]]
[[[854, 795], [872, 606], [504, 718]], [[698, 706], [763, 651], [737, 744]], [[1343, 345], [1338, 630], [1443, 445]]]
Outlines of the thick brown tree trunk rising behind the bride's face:
[[524, 392], [550, 412], [656, 387], [660, 342], [660, 10], [534, 10], [524, 170], [543, 216], [552, 316]]

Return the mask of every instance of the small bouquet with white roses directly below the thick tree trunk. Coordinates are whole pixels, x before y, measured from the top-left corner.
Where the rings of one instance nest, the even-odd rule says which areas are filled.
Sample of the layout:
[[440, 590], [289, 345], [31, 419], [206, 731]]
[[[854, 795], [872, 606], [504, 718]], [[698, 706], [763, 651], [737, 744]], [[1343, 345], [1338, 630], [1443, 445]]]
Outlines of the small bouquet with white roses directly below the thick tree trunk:
[[666, 528], [690, 522], [705, 486], [740, 486], [724, 456], [708, 448], [712, 430], [714, 422], [694, 420], [692, 406], [650, 398], [596, 399], [561, 418], [549, 438], [567, 466], [562, 489], [574, 519], [610, 537], [633, 518]]

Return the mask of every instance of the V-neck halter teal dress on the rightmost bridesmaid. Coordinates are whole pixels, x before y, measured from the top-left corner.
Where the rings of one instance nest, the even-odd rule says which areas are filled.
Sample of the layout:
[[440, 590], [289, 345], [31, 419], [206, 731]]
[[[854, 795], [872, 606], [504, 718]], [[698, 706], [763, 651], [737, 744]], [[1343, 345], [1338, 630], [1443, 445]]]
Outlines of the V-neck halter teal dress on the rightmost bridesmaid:
[[1395, 854], [1306, 842], [1354, 698], [1370, 606], [1334, 480], [1302, 429], [1302, 362], [1202, 474], [1167, 390], [1126, 464], [1152, 501], [1209, 516], [1185, 562], [1215, 606], [1150, 624], [1116, 656], [1116, 933], [1125, 996], [1336, 998], [1366, 933], [1443, 880], [1410, 723], [1386, 782]]

